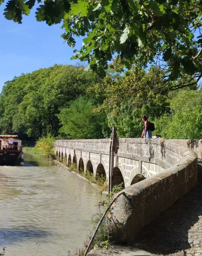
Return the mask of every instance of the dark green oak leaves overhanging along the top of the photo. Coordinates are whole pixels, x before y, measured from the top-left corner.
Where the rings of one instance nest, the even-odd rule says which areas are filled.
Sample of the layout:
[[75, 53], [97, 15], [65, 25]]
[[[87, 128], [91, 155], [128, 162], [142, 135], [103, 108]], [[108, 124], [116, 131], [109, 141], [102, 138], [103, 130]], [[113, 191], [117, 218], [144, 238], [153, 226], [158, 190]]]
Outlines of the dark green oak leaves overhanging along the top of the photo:
[[[0, 4], [4, 0], [0, 0]], [[199, 79], [202, 73], [201, 0], [38, 0], [37, 21], [63, 22], [64, 40], [83, 44], [74, 59], [105, 76], [117, 54], [122, 67], [159, 65], [174, 80], [181, 73]], [[5, 18], [22, 22], [36, 0], [9, 0]]]

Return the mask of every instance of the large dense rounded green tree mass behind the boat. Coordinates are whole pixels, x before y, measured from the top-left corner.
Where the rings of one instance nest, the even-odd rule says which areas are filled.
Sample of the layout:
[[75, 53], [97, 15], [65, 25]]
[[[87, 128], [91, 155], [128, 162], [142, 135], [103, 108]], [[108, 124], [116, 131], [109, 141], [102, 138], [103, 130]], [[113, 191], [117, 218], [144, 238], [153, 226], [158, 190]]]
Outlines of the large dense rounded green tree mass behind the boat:
[[[86, 89], [96, 82], [97, 78], [83, 67], [66, 65], [15, 77], [5, 83], [1, 93], [1, 132], [27, 134], [33, 138], [47, 132], [57, 136], [61, 126], [57, 114], [62, 108], [68, 108], [70, 101], [85, 95]], [[104, 135], [100, 133], [100, 136]]]

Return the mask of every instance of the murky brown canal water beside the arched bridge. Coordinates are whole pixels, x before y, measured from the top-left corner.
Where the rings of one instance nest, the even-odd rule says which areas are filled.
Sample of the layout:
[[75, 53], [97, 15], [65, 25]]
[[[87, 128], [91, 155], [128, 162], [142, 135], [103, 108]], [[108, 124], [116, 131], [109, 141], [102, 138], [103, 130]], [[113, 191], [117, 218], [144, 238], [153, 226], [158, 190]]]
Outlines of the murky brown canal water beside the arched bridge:
[[92, 230], [103, 196], [66, 168], [24, 154], [24, 166], [0, 166], [0, 253], [69, 255]]

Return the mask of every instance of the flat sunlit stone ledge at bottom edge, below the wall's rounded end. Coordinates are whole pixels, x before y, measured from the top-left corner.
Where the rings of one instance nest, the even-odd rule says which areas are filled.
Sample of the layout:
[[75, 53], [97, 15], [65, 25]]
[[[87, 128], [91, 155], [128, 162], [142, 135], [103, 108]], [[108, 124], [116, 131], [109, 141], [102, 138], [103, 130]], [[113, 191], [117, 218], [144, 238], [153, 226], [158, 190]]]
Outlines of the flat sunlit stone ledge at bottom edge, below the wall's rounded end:
[[125, 246], [110, 246], [108, 250], [96, 248], [94, 250], [91, 250], [87, 255], [88, 256], [111, 256], [111, 255], [119, 255], [119, 256], [155, 256], [156, 254], [139, 250], [134, 247], [125, 247]]

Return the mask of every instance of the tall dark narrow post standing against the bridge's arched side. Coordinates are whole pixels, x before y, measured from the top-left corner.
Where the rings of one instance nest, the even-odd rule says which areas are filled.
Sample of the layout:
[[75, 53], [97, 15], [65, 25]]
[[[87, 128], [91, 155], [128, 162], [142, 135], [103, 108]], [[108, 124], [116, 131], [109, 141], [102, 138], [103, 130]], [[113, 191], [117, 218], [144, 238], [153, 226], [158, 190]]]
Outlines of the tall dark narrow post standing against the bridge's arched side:
[[108, 195], [112, 191], [113, 187], [113, 169], [114, 169], [114, 156], [117, 153], [117, 129], [114, 126], [112, 128], [111, 142], [110, 142], [110, 164], [109, 164], [109, 177], [108, 177]]

